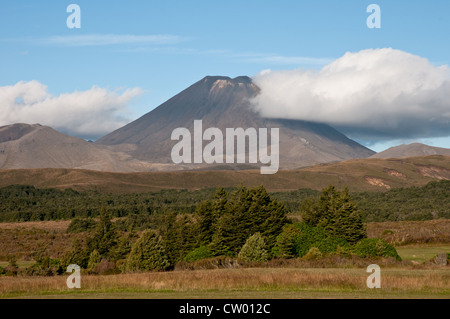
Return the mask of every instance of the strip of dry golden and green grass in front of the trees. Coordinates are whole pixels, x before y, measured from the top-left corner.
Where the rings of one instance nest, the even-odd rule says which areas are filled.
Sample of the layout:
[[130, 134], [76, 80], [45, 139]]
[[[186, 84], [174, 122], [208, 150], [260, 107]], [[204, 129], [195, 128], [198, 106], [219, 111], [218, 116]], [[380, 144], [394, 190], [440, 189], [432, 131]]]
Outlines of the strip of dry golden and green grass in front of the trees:
[[449, 298], [450, 269], [386, 268], [381, 289], [366, 269], [248, 268], [82, 276], [0, 277], [2, 298]]

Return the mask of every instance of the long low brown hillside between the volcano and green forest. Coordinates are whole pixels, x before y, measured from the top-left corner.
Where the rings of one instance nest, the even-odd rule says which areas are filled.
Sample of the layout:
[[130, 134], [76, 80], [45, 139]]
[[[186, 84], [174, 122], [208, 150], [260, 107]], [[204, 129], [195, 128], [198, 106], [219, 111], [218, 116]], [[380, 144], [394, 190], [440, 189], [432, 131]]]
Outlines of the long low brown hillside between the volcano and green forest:
[[[432, 174], [430, 173], [432, 172]], [[430, 181], [450, 179], [450, 157], [426, 156], [405, 159], [358, 159], [321, 164], [299, 170], [281, 170], [275, 175], [247, 171], [178, 171], [111, 173], [76, 169], [0, 170], [0, 187], [14, 184], [39, 188], [96, 189], [129, 193], [161, 189], [201, 189], [264, 185], [269, 191], [311, 188], [330, 184], [348, 186], [352, 191], [385, 191], [390, 188], [421, 186]]]

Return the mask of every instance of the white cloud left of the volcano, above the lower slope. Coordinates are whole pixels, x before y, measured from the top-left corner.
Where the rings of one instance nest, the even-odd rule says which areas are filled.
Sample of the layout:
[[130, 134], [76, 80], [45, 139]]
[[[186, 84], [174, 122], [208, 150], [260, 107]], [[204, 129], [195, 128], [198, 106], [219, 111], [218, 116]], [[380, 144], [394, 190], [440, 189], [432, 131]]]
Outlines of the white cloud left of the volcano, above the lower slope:
[[18, 82], [0, 87], [0, 125], [39, 123], [70, 135], [98, 138], [127, 124], [121, 116], [139, 88], [108, 91], [93, 86], [59, 96], [38, 82]]

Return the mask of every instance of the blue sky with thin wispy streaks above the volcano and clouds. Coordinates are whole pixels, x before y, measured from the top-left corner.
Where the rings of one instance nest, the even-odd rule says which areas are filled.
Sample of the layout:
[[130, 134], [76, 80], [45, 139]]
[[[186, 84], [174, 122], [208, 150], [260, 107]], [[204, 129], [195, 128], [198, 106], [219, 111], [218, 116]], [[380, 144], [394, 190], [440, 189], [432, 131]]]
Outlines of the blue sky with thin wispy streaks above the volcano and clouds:
[[[66, 25], [71, 3], [81, 8], [80, 29]], [[381, 29], [366, 25], [371, 3], [381, 8]], [[119, 125], [206, 75], [320, 70], [346, 52], [377, 48], [450, 65], [449, 12], [447, 0], [5, 0], [0, 5], [0, 87], [35, 81], [52, 97], [93, 87], [115, 92], [112, 98], [123, 99], [109, 111], [116, 112], [113, 120]], [[138, 93], [123, 96], [136, 88]], [[415, 138], [450, 147], [445, 136], [425, 137]], [[403, 137], [372, 146], [379, 151], [403, 140], [411, 142]]]

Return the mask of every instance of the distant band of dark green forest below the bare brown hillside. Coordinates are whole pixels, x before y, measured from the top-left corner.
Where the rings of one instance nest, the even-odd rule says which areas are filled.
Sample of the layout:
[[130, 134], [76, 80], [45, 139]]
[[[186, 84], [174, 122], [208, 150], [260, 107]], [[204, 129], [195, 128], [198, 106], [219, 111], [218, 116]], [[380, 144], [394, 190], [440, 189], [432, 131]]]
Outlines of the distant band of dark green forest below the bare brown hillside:
[[[236, 188], [227, 188], [231, 191]], [[34, 186], [0, 188], [0, 222], [43, 221], [96, 217], [104, 208], [112, 217], [125, 217], [123, 227], [143, 229], [157, 225], [161, 213], [191, 214], [215, 188], [196, 191], [161, 190], [139, 194], [107, 194], [72, 189], [40, 189]], [[299, 189], [271, 193], [287, 212], [299, 215], [301, 205], [319, 191]], [[352, 192], [365, 222], [432, 220], [450, 218], [450, 181], [430, 182], [422, 187], [386, 192]]]

